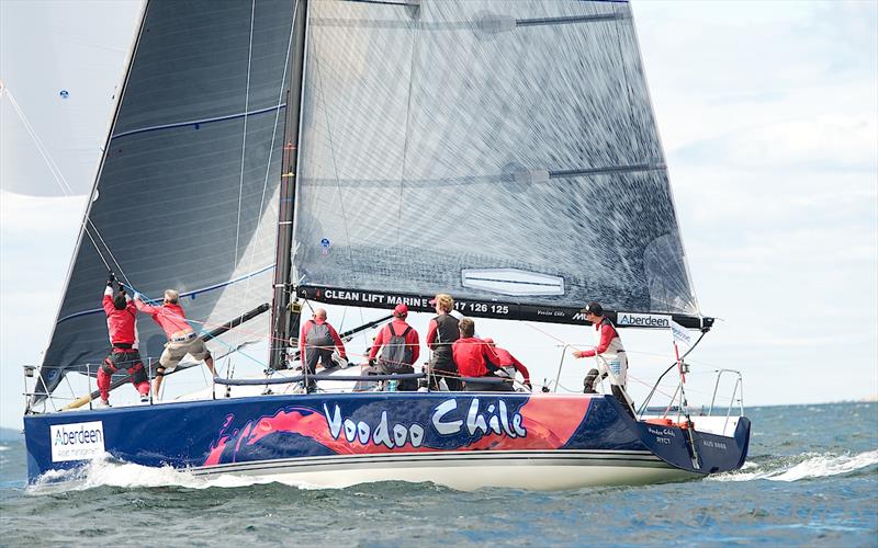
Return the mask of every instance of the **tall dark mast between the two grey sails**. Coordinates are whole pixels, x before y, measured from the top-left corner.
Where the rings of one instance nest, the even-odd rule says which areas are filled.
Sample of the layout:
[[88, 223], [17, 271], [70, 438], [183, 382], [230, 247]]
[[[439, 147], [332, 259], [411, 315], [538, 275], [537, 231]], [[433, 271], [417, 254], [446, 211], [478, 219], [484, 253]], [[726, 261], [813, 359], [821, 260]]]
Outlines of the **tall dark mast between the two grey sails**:
[[296, 0], [293, 8], [293, 43], [288, 70], [290, 87], [286, 90], [286, 119], [283, 128], [283, 159], [278, 205], [278, 247], [271, 304], [269, 367], [274, 369], [283, 367], [283, 354], [290, 342], [290, 334], [299, 331], [299, 310], [292, 310], [290, 302], [293, 289], [290, 275], [307, 8], [307, 0]]

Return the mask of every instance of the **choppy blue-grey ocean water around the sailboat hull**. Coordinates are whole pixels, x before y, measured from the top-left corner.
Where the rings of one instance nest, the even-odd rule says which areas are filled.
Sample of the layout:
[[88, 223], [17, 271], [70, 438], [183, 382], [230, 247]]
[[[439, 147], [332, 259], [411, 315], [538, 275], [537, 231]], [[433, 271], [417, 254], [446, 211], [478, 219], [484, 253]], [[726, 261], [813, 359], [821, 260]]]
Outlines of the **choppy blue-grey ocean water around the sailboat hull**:
[[648, 487], [460, 492], [338, 490], [95, 463], [25, 488], [22, 439], [0, 442], [0, 545], [878, 546], [878, 403], [747, 410], [740, 471]]

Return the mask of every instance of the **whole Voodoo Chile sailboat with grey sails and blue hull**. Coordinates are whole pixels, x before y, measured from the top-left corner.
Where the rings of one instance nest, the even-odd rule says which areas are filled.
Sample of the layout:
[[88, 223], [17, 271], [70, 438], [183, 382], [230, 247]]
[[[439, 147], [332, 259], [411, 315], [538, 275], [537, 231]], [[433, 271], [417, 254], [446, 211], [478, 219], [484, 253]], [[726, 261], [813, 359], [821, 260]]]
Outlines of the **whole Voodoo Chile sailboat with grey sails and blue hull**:
[[[268, 341], [263, 374], [59, 409], [65, 379], [106, 355], [108, 271], [146, 296], [177, 288], [215, 356]], [[743, 465], [743, 413], [693, 420], [682, 397], [686, 420], [604, 395], [354, 391], [356, 367], [289, 389], [303, 305], [426, 312], [437, 293], [474, 318], [586, 326], [599, 300], [620, 329], [712, 327], [629, 3], [149, 0], [48, 349], [25, 369], [29, 480], [108, 454], [324, 487], [565, 489]], [[166, 339], [138, 330], [151, 364]]]

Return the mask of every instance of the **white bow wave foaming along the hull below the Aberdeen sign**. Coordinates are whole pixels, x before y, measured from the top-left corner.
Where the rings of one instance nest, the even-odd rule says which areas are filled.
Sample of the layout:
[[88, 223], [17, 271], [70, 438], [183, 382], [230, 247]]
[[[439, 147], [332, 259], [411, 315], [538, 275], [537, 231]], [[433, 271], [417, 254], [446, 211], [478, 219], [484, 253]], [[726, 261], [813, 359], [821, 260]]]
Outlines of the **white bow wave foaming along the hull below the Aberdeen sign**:
[[52, 494], [64, 491], [85, 491], [99, 487], [116, 488], [158, 488], [180, 487], [185, 489], [241, 488], [266, 483], [283, 483], [300, 489], [317, 489], [306, 482], [280, 481], [263, 476], [219, 476], [202, 477], [188, 470], [165, 466], [160, 468], [140, 466], [114, 459], [109, 454], [103, 458], [69, 470], [49, 470], [29, 486], [29, 494]]

